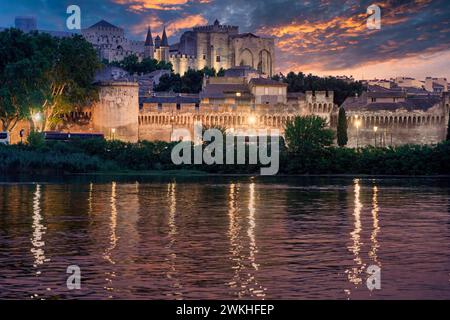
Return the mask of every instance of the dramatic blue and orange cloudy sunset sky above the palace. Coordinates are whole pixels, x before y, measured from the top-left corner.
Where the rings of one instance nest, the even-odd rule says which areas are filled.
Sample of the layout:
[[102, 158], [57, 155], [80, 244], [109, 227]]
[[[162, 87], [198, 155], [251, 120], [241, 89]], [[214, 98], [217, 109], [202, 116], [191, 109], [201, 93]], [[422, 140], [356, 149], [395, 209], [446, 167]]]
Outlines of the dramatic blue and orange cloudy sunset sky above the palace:
[[[450, 79], [449, 0], [0, 0], [0, 26], [33, 15], [41, 29], [65, 30], [70, 4], [81, 7], [82, 27], [105, 19], [134, 39], [147, 25], [166, 25], [172, 42], [216, 18], [239, 25], [277, 39], [279, 72]], [[367, 29], [371, 4], [382, 9], [381, 30]]]

